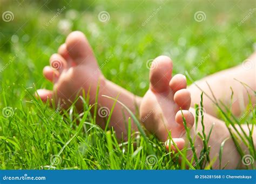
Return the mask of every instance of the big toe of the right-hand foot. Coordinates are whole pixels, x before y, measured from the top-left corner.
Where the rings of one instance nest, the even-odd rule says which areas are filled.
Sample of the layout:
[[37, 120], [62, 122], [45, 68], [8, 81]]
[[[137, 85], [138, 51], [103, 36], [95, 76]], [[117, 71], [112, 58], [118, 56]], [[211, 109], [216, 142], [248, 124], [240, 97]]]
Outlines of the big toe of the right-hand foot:
[[153, 60], [150, 68], [150, 88], [157, 93], [169, 90], [172, 78], [172, 60], [168, 56], [158, 56]]

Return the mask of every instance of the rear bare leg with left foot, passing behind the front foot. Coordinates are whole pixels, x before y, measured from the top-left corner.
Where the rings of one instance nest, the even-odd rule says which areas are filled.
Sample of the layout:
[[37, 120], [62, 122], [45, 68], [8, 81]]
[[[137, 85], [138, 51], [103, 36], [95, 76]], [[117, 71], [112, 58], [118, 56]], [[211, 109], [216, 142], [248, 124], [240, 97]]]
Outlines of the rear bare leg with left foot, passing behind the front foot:
[[[250, 59], [253, 61], [255, 64], [255, 55], [254, 54]], [[77, 95], [78, 91], [83, 88], [85, 92], [87, 93], [90, 91], [90, 99], [91, 101], [89, 102], [90, 104], [95, 103], [95, 97], [96, 97], [96, 89], [97, 89], [97, 82], [100, 81], [100, 89], [99, 89], [99, 98], [98, 98], [98, 106], [99, 107], [104, 107], [110, 110], [113, 105], [113, 101], [102, 97], [102, 95], [107, 95], [111, 97], [117, 97], [119, 94], [118, 100], [124, 103], [134, 114], [136, 114], [136, 108], [135, 104], [140, 107], [141, 99], [138, 96], [134, 96], [131, 94], [129, 91], [126, 91], [125, 89], [117, 86], [116, 84], [113, 84], [112, 82], [106, 80], [102, 73], [100, 72], [100, 69], [97, 65], [97, 61], [95, 57], [93, 56], [92, 49], [87, 42], [86, 38], [84, 35], [80, 32], [73, 32], [70, 34], [70, 36], [67, 38], [66, 43], [60, 46], [59, 48], [59, 53], [58, 54], [53, 54], [51, 57], [51, 65], [54, 65], [54, 63], [59, 64], [55, 70], [53, 70], [51, 67], [45, 67], [44, 68], [44, 75], [46, 79], [52, 81], [55, 83], [55, 86], [53, 88], [53, 91], [50, 90], [39, 90], [38, 95], [42, 98], [43, 101], [46, 101], [47, 98], [56, 98], [66, 100], [68, 103], [68, 100], [73, 101], [75, 96]], [[228, 75], [229, 77], [226, 77]], [[248, 77], [245, 77], [248, 76]], [[244, 70], [241, 66], [224, 70], [223, 72], [211, 75], [206, 77], [205, 79], [199, 81], [199, 86], [203, 88], [203, 90], [206, 91], [206, 93], [210, 94], [210, 91], [208, 91], [208, 87], [205, 83], [205, 81], [208, 81], [212, 87], [213, 93], [215, 96], [217, 96], [218, 99], [221, 99], [223, 101], [228, 101], [228, 98], [225, 92], [229, 90], [228, 85], [232, 85], [233, 89], [235, 92], [241, 91], [242, 87], [238, 82], [235, 82], [232, 80], [233, 78], [237, 78], [238, 80], [241, 80], [245, 83], [247, 83], [249, 86], [251, 86], [253, 89], [255, 89], [255, 77], [250, 78], [250, 76], [255, 76], [255, 66], [254, 68], [250, 70]], [[181, 76], [177, 76], [177, 80], [183, 79]], [[245, 79], [243, 79], [245, 77]], [[154, 83], [158, 83], [157, 77], [152, 76], [152, 81]], [[232, 83], [232, 82], [233, 83]], [[222, 93], [220, 93], [220, 88], [219, 84], [223, 84], [225, 82], [225, 88], [222, 87]], [[238, 84], [238, 86], [236, 85]], [[186, 84], [186, 83], [184, 83]], [[228, 84], [228, 85], [227, 85]], [[160, 85], [161, 86], [161, 85]], [[175, 86], [175, 85], [174, 85]], [[186, 86], [185, 86], [186, 87]], [[183, 103], [183, 95], [186, 97], [190, 96], [187, 93], [188, 91], [184, 90], [184, 88], [179, 93], [176, 95], [176, 102]], [[165, 87], [164, 87], [165, 88]], [[90, 89], [90, 90], [89, 90]], [[188, 88], [191, 92], [192, 96], [192, 106], [194, 103], [199, 103], [200, 102], [200, 90], [197, 87], [191, 86]], [[175, 89], [176, 90], [176, 89]], [[242, 95], [245, 95], [245, 90], [243, 91]], [[82, 94], [79, 94], [82, 95]], [[172, 94], [174, 95], [174, 94]], [[171, 96], [172, 96], [171, 95]], [[235, 97], [239, 97], [238, 94], [235, 94]], [[170, 97], [170, 95], [169, 95]], [[181, 98], [181, 100], [179, 99]], [[190, 99], [190, 97], [189, 97]], [[254, 97], [254, 102], [255, 102], [255, 97]], [[170, 101], [173, 102], [173, 99], [170, 98]], [[176, 104], [176, 102], [173, 104]], [[247, 101], [245, 101], [247, 103]], [[186, 106], [187, 102], [184, 102], [184, 104], [180, 104], [181, 106], [184, 106], [183, 109], [188, 109]], [[205, 109], [208, 114], [215, 115], [215, 109], [212, 105], [212, 102], [208, 100], [208, 98], [205, 98], [204, 100], [204, 105]], [[236, 103], [234, 105], [234, 111], [239, 114], [240, 109], [239, 105]], [[69, 104], [66, 104], [68, 107]], [[83, 110], [83, 104], [81, 101], [78, 101], [76, 103], [77, 109], [78, 110]], [[174, 105], [175, 106], [175, 105]], [[173, 106], [173, 107], [174, 107]], [[177, 104], [176, 104], [177, 106]], [[238, 110], [237, 110], [238, 109]], [[172, 119], [174, 119], [175, 114], [177, 112], [177, 109], [173, 111]], [[190, 114], [188, 112], [187, 116], [190, 117]], [[114, 126], [117, 136], [120, 138], [122, 137], [122, 133], [126, 133], [125, 130], [125, 123], [124, 123], [124, 115], [125, 115], [125, 120], [127, 121], [127, 117], [130, 115], [122, 108], [122, 105], [116, 104], [116, 108], [114, 108], [110, 126]], [[102, 125], [103, 128], [105, 126], [105, 115], [104, 117], [100, 116], [100, 113], [97, 113], [97, 123]], [[180, 117], [180, 116], [179, 116]], [[133, 130], [136, 130], [136, 126], [132, 123], [132, 128]], [[178, 132], [178, 131], [177, 131]], [[159, 135], [163, 140], [166, 140], [164, 135]]]

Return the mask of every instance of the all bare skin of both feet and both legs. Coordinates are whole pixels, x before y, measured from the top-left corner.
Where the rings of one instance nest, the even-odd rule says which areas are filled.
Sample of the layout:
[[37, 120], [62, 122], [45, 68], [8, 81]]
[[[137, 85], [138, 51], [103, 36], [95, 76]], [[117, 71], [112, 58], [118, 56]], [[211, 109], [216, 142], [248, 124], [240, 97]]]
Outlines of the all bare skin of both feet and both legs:
[[[255, 54], [253, 54], [250, 60], [255, 64]], [[227, 96], [225, 92], [230, 90], [230, 86], [232, 86], [234, 91], [241, 91], [244, 97], [244, 104], [246, 105], [248, 103], [246, 90], [241, 88], [241, 86], [237, 86], [237, 82], [235, 82], [232, 77], [241, 79], [241, 81], [247, 83], [248, 86], [251, 86], [255, 90], [255, 77], [254, 79], [250, 77], [255, 76], [255, 65], [249, 72], [248, 70], [242, 70], [243, 68], [241, 66], [224, 70], [223, 72], [213, 74], [198, 81], [197, 84], [200, 89], [195, 85], [186, 89], [185, 76], [178, 74], [172, 77], [171, 59], [167, 56], [159, 56], [154, 60], [155, 64], [152, 64], [152, 66], [157, 67], [151, 68], [150, 70], [149, 91], [147, 91], [143, 98], [135, 96], [129, 91], [105, 79], [104, 75], [100, 72], [97, 60], [86, 37], [79, 31], [70, 33], [66, 38], [65, 44], [59, 47], [58, 54], [51, 56], [50, 65], [55, 66], [54, 64], [56, 62], [58, 64], [60, 63], [61, 67], [53, 69], [50, 66], [46, 66], [43, 70], [46, 79], [54, 83], [52, 91], [46, 89], [39, 89], [37, 91], [38, 96], [44, 102], [50, 98], [55, 102], [65, 104], [63, 108], [67, 109], [71, 102], [75, 100], [76, 96], [82, 95], [83, 89], [85, 94], [90, 94], [89, 104], [93, 105], [95, 104], [96, 90], [99, 84], [98, 107], [104, 107], [110, 110], [113, 105], [113, 100], [103, 97], [102, 95], [111, 96], [113, 98], [119, 95], [118, 100], [125, 104], [133, 114], [137, 114], [136, 107], [139, 107], [140, 118], [145, 128], [151, 133], [156, 134], [160, 140], [166, 141], [168, 131], [171, 130], [174, 141], [179, 149], [183, 148], [186, 143], [180, 108], [183, 110], [187, 124], [191, 128], [191, 135], [195, 136], [197, 131], [201, 131], [201, 126], [199, 124], [198, 129], [195, 130], [193, 124], [195, 111], [193, 108], [190, 108], [190, 106], [193, 107], [194, 103], [200, 103], [200, 89], [206, 91], [206, 93], [209, 92], [206, 81], [210, 83], [215, 98], [227, 104], [232, 104], [230, 98], [227, 98], [230, 95]], [[226, 84], [224, 87], [221, 87], [223, 90], [219, 89], [220, 83]], [[240, 96], [240, 94], [234, 95], [235, 99]], [[252, 100], [253, 103], [255, 103], [255, 96], [253, 95]], [[83, 111], [83, 102], [81, 100], [77, 101], [76, 108], [80, 112]], [[229, 133], [224, 122], [213, 117], [217, 116], [216, 109], [213, 103], [206, 97], [204, 97], [204, 108], [207, 112], [205, 113], [204, 121], [207, 135], [212, 124], [214, 124], [209, 141], [209, 144], [212, 146], [210, 157], [213, 158], [218, 155], [220, 144], [229, 136]], [[232, 110], [236, 115], [241, 113], [243, 109], [240, 108], [239, 101], [232, 104]], [[122, 138], [123, 134], [126, 139], [127, 131], [124, 122], [127, 122], [129, 116], [129, 113], [124, 110], [122, 105], [116, 103], [111, 116], [110, 126], [114, 127], [118, 138]], [[97, 112], [97, 123], [102, 126], [102, 128], [105, 127], [106, 118], [107, 117], [100, 116], [99, 112]], [[132, 129], [137, 130], [133, 122]], [[256, 140], [254, 143], [255, 142]], [[198, 138], [196, 138], [196, 145], [199, 154], [202, 143]], [[221, 165], [225, 165], [227, 161], [231, 163], [228, 164], [227, 168], [235, 168], [238, 165], [240, 157], [232, 140], [229, 139], [226, 141], [223, 155], [225, 155], [225, 157]], [[188, 157], [190, 157], [189, 154]], [[218, 165], [219, 163], [216, 162], [214, 168], [218, 168]]]

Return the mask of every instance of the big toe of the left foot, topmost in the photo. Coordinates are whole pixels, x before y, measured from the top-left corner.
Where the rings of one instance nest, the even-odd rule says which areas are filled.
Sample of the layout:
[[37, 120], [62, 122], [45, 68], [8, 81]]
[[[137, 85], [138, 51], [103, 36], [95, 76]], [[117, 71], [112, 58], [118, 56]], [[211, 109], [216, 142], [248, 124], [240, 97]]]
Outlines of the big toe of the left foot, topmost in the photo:
[[82, 63], [97, 64], [88, 40], [84, 33], [80, 31], [74, 31], [69, 34], [66, 38], [66, 49], [77, 65]]

